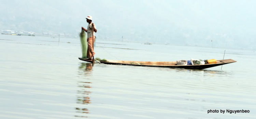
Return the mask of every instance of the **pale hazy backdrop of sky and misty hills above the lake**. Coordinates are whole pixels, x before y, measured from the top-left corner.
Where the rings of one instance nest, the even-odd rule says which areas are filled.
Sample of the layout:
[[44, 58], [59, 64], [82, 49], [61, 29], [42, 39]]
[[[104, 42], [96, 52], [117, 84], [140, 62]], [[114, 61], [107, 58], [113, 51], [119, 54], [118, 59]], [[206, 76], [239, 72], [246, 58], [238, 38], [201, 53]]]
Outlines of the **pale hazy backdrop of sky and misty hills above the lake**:
[[91, 15], [101, 39], [251, 49], [255, 6], [255, 0], [0, 0], [0, 30], [77, 35]]

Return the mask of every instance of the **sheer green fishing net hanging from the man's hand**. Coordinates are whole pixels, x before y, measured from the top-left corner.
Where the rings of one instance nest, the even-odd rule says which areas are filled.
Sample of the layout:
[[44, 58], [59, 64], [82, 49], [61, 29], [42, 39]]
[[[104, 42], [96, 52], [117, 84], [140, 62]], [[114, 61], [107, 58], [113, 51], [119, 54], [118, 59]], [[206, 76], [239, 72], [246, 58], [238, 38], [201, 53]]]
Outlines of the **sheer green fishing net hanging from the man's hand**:
[[87, 58], [87, 36], [84, 30], [80, 33], [80, 41], [81, 41], [81, 50], [82, 50], [82, 58]]

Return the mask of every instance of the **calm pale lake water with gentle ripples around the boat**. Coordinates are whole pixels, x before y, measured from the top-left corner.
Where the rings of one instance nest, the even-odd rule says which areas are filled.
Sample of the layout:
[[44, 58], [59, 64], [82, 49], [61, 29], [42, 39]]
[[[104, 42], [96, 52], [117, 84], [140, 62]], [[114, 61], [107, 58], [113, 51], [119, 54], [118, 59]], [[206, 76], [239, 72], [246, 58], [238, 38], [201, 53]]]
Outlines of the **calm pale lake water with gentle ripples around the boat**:
[[[67, 43], [70, 42], [70, 43]], [[204, 70], [90, 64], [80, 40], [0, 35], [1, 119], [255, 119], [256, 52], [96, 39], [96, 57], [236, 60]], [[250, 113], [209, 113], [208, 110]]]

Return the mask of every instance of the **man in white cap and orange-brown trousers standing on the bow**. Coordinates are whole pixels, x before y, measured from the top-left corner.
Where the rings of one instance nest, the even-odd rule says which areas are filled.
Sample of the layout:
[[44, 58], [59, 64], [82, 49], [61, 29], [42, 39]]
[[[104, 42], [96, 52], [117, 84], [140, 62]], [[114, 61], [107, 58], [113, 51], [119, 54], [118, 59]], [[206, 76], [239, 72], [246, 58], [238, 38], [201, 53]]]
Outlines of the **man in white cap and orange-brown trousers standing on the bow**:
[[97, 32], [95, 24], [92, 22], [93, 17], [88, 15], [86, 18], [86, 21], [88, 23], [87, 30], [82, 27], [82, 29], [87, 32], [87, 42], [88, 42], [88, 49], [87, 49], [87, 57], [88, 60], [92, 60], [93, 56], [95, 55], [94, 49], [93, 49], [93, 43], [95, 42], [95, 35], [93, 36], [93, 30], [94, 34]]

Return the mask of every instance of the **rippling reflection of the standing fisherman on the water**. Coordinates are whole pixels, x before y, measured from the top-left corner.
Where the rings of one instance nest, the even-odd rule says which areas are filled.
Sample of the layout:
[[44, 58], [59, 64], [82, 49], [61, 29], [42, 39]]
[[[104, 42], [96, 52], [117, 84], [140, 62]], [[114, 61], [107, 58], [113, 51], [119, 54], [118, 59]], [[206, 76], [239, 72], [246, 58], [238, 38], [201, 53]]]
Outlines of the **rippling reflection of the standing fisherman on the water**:
[[[90, 100], [90, 94], [91, 94], [91, 82], [88, 82], [88, 80], [90, 80], [90, 76], [92, 75], [92, 71], [93, 71], [93, 64], [91, 63], [81, 63], [81, 65], [79, 66], [79, 75], [83, 75], [84, 77], [86, 77], [86, 79], [84, 79], [84, 82], [77, 82], [77, 87], [79, 87], [80, 90], [77, 90], [77, 99], [76, 99], [76, 103], [77, 104], [91, 104], [91, 100]], [[76, 107], [76, 113], [80, 113], [80, 114], [88, 114], [89, 113], [89, 109], [88, 108], [84, 108], [86, 106], [81, 106], [82, 108], [78, 108]], [[75, 117], [83, 117], [83, 118], [88, 118], [87, 116], [78, 116], [75, 115]]]

